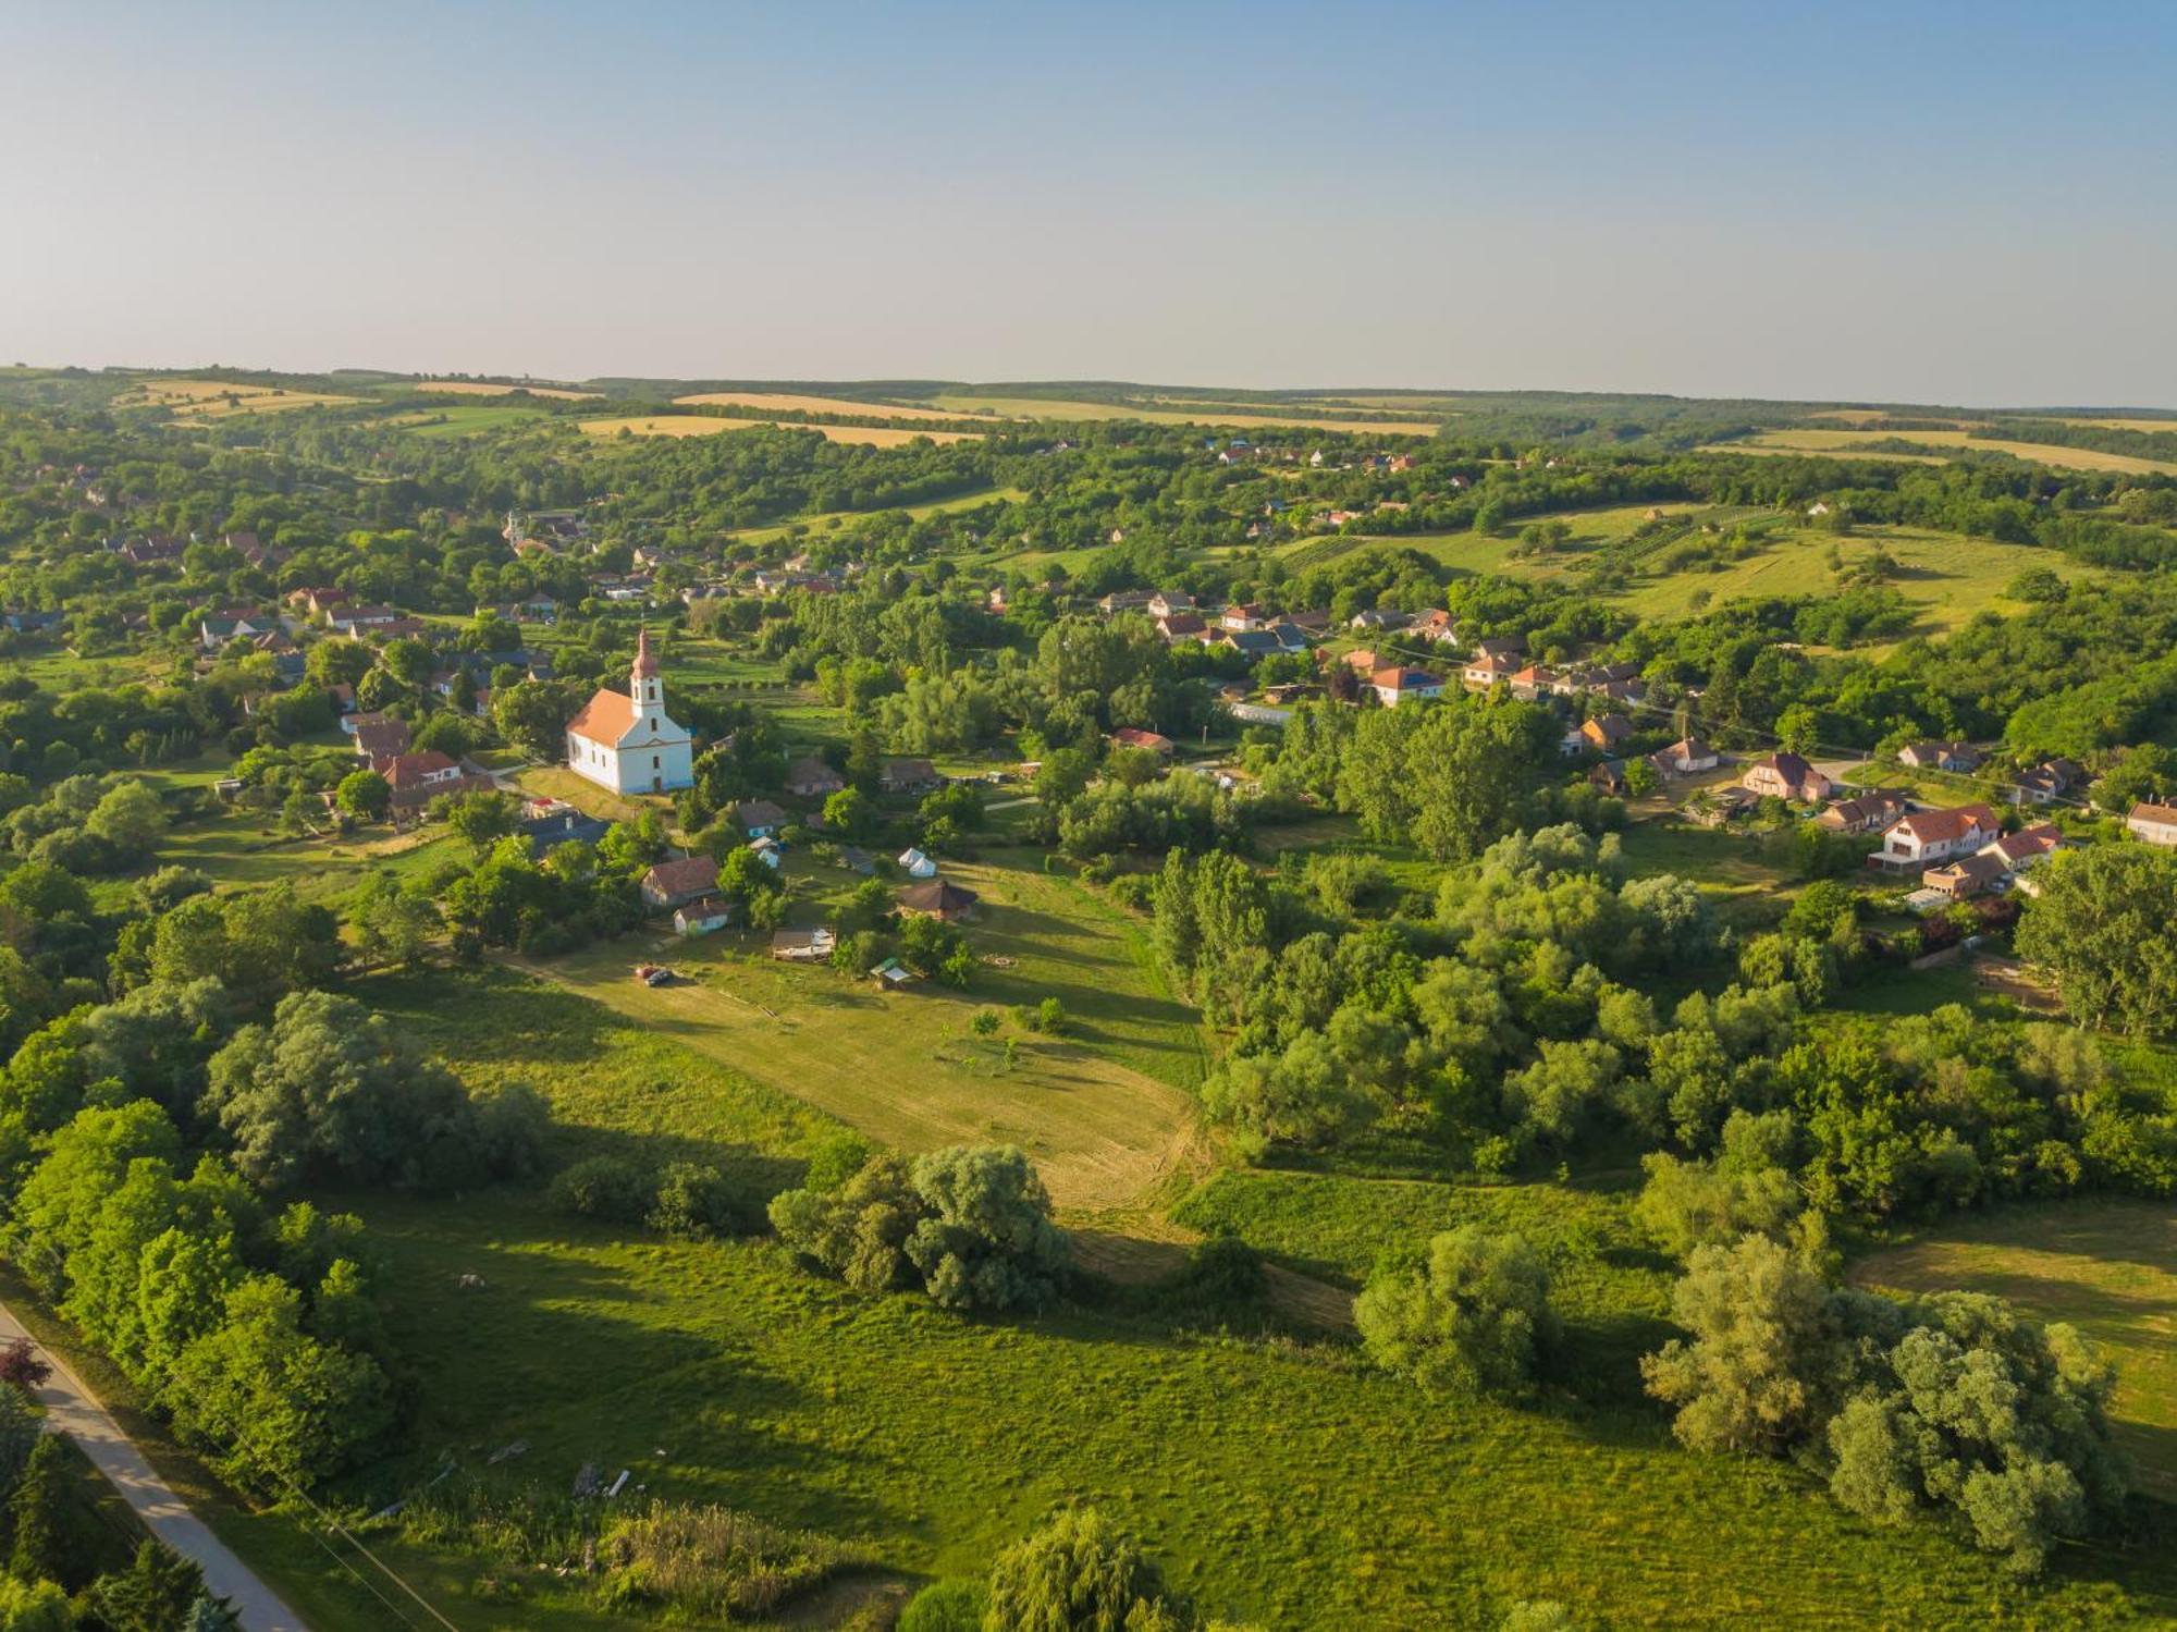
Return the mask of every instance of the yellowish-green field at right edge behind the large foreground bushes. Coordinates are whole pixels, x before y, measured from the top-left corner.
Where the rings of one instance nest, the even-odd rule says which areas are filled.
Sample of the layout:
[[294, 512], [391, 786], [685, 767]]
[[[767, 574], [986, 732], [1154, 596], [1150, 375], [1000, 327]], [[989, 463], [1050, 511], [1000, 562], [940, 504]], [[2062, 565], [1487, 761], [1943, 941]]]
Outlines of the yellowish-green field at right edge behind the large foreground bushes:
[[2116, 1360], [2118, 1441], [2140, 1486], [2177, 1497], [2177, 1212], [2077, 1201], [1961, 1221], [1853, 1266], [1861, 1286], [1996, 1293], [2070, 1321]]

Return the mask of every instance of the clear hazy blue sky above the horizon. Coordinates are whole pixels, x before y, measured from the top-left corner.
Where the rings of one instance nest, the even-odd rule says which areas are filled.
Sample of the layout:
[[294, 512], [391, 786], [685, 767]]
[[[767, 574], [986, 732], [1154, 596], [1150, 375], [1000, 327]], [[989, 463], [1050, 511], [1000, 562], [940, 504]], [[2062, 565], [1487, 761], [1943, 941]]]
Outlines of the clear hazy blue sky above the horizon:
[[2177, 407], [2173, 4], [0, 0], [0, 363]]

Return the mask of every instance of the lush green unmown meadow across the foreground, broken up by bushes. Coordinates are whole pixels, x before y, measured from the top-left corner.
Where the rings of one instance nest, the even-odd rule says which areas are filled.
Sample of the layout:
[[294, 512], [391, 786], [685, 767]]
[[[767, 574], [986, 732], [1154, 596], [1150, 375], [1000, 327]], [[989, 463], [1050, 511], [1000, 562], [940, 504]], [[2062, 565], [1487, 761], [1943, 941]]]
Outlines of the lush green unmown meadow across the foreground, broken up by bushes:
[[[723, 1064], [551, 988], [429, 977], [372, 994], [470, 1077], [544, 1088], [570, 1151], [742, 1160], [745, 1140], [790, 1153], [814, 1127]], [[1247, 1206], [1247, 1186], [1330, 1182], [1217, 1184], [1243, 1186], [1219, 1201], [1226, 1219], [1348, 1273], [1376, 1236], [1419, 1234], [1485, 1195], [1385, 1186], [1348, 1203], [1319, 1188], [1326, 1201]], [[1504, 1195], [1533, 1197], [1504, 1203], [1522, 1216], [1589, 1219], [1598, 1332], [1611, 1310], [1652, 1319], [1652, 1269], [1615, 1262], [1613, 1199]], [[1670, 1449], [1652, 1414], [1609, 1404], [1622, 1340], [1596, 1351], [1615, 1373], [1600, 1404], [1585, 1390], [1517, 1412], [1428, 1399], [1354, 1371], [1337, 1345], [1202, 1340], [1093, 1312], [956, 1321], [805, 1277], [775, 1245], [614, 1240], [518, 1195], [350, 1201], [394, 1253], [396, 1340], [433, 1375], [420, 1462], [522, 1436], [520, 1467], [544, 1482], [592, 1458], [634, 1467], [651, 1491], [866, 1536], [910, 1571], [980, 1569], [1082, 1495], [1206, 1604], [1278, 1628], [1489, 1623], [1513, 1597], [1618, 1625], [1857, 1625], [1877, 1602], [1911, 1625], [2077, 1625], [2110, 1597], [2018, 1588], [1929, 1530], [1870, 1532], [1787, 1469]], [[462, 1273], [488, 1288], [459, 1293]], [[596, 1623], [468, 1602], [457, 1569], [438, 1580], [462, 1625]], [[2133, 1586], [2177, 1610], [2170, 1582]]]

